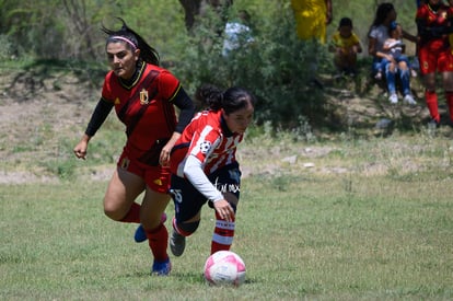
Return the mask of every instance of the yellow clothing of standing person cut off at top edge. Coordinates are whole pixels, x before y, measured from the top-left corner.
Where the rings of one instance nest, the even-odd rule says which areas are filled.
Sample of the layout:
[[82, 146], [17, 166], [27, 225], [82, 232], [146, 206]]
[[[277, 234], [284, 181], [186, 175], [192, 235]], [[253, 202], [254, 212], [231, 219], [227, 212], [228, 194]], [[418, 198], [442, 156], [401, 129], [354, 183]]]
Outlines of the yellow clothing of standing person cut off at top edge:
[[332, 0], [291, 0], [291, 8], [299, 38], [315, 38], [324, 44], [333, 18]]

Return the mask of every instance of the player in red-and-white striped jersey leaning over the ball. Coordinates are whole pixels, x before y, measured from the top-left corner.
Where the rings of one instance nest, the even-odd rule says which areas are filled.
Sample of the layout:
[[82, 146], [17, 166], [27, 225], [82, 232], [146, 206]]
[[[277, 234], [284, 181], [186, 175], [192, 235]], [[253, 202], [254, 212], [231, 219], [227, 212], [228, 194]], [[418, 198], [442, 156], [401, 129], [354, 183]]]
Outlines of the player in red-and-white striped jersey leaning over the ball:
[[185, 238], [197, 230], [207, 201], [216, 211], [211, 254], [230, 250], [241, 187], [235, 152], [255, 107], [254, 96], [241, 88], [222, 92], [206, 85], [197, 95], [207, 101], [210, 109], [194, 117], [171, 157], [170, 192], [175, 218], [170, 248], [175, 256], [183, 254]]

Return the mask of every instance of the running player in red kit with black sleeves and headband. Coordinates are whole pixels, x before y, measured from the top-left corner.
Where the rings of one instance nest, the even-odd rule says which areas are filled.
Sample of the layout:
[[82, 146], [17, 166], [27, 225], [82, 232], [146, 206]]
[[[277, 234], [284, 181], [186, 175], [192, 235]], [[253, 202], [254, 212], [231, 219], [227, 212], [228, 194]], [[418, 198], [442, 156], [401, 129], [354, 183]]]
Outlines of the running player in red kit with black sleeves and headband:
[[[154, 257], [151, 273], [169, 275], [169, 233], [161, 217], [170, 201], [170, 151], [194, 116], [195, 106], [179, 81], [159, 67], [155, 49], [120, 21], [119, 31], [103, 26], [112, 71], [73, 151], [85, 159], [89, 141], [115, 107], [126, 126], [127, 141], [104, 197], [104, 211], [116, 221], [141, 223], [137, 232], [144, 238], [139, 240], [148, 239]], [[179, 108], [178, 120], [174, 106]], [[139, 205], [135, 200], [143, 192]]]

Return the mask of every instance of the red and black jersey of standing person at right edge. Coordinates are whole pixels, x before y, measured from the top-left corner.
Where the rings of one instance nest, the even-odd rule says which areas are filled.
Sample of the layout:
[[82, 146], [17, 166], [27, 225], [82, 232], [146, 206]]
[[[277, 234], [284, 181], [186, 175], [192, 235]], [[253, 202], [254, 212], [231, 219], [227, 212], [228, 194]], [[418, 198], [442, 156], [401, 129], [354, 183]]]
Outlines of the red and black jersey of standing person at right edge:
[[420, 47], [440, 49], [449, 46], [448, 34], [452, 31], [453, 8], [439, 4], [433, 8], [429, 3], [422, 4], [416, 14]]

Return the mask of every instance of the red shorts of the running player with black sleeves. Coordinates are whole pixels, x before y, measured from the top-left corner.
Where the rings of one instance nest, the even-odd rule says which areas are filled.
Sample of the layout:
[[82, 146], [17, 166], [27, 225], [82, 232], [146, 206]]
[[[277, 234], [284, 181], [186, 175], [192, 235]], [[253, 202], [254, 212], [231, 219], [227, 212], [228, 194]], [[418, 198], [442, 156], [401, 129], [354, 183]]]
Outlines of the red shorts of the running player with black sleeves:
[[138, 160], [142, 154], [143, 151], [126, 146], [119, 157], [117, 166], [143, 178], [152, 190], [161, 194], [169, 193], [170, 167], [142, 163]]

